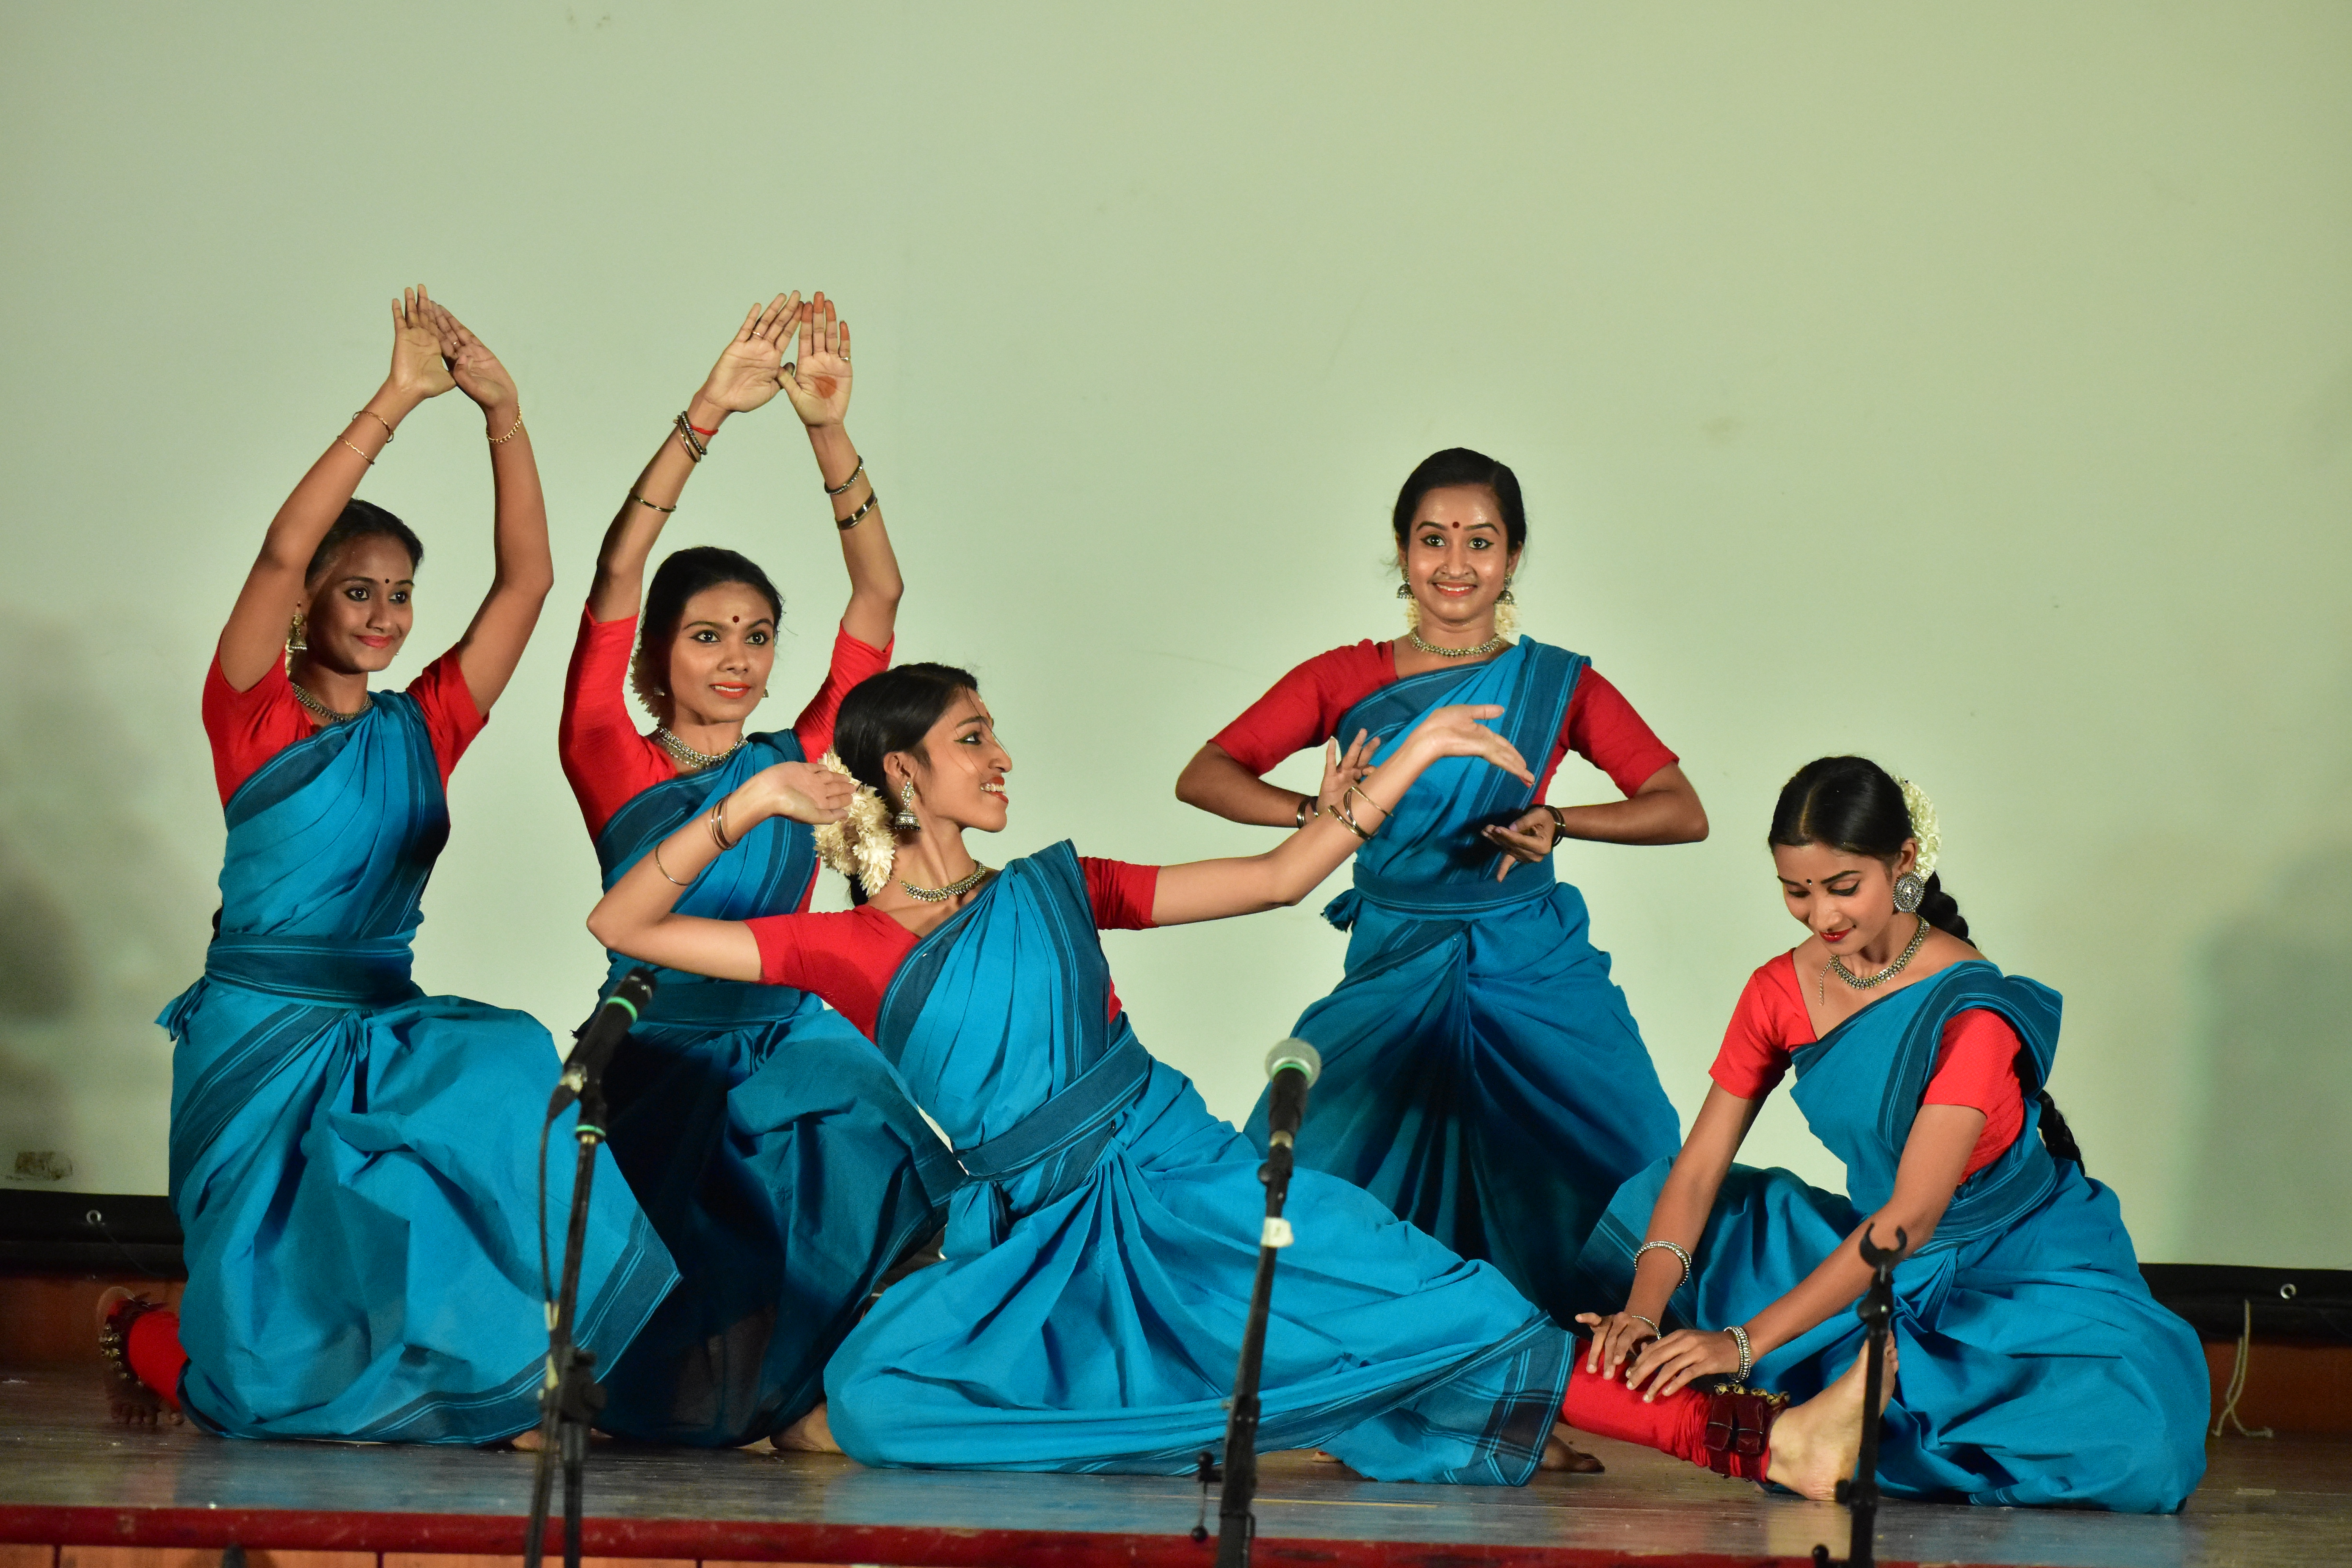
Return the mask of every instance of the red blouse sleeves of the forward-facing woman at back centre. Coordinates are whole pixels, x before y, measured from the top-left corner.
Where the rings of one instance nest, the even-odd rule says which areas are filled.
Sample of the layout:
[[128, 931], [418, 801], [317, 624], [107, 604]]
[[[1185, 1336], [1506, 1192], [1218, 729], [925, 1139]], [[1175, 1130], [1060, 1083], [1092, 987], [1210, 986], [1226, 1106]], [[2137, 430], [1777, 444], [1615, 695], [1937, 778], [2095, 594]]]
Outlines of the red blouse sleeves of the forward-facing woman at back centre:
[[[1397, 644], [1357, 642], [1348, 649], [1317, 654], [1242, 712], [1240, 719], [1216, 733], [1216, 745], [1251, 773], [1263, 776], [1291, 752], [1319, 745], [1336, 729], [1341, 717], [1367, 696], [1397, 679]], [[1352, 736], [1341, 736], [1345, 745]], [[1616, 686], [1599, 670], [1585, 668], [1576, 677], [1569, 696], [1569, 715], [1559, 724], [1559, 741], [1536, 778], [1536, 799], [1552, 785], [1559, 759], [1576, 752], [1625, 795], [1632, 795], [1651, 773], [1677, 762], [1665, 750], [1642, 715], [1632, 710]]]

